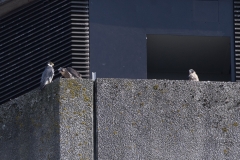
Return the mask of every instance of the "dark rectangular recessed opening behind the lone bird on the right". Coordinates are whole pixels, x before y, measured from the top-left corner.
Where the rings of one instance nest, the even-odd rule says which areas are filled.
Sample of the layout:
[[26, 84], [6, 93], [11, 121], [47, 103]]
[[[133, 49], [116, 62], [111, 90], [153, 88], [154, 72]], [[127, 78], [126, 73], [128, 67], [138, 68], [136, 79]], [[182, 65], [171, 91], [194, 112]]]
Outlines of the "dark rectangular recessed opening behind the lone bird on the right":
[[230, 37], [147, 35], [148, 79], [231, 81]]

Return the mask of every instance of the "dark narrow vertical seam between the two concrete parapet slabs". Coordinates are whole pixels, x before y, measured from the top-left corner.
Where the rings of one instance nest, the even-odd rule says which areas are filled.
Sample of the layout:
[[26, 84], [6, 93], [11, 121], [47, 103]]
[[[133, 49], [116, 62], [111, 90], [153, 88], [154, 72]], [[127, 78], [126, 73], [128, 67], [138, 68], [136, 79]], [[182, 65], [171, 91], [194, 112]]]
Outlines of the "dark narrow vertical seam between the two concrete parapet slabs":
[[98, 159], [97, 143], [97, 79], [93, 81], [93, 159]]

